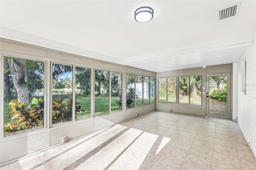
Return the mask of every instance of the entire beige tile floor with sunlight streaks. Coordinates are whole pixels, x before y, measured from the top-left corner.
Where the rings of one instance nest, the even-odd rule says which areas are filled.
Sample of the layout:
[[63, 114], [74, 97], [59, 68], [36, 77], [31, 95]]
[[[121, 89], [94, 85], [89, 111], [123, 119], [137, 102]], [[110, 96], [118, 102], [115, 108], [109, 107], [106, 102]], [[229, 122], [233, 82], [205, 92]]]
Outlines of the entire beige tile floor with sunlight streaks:
[[155, 111], [1, 167], [3, 170], [255, 170], [234, 121]]

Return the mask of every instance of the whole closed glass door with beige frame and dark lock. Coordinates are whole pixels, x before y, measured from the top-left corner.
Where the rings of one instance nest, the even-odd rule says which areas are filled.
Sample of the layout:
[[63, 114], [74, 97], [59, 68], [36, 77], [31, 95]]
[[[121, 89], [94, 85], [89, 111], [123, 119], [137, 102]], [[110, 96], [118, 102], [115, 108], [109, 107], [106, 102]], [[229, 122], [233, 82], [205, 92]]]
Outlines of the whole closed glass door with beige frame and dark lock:
[[206, 116], [230, 118], [230, 73], [206, 75]]

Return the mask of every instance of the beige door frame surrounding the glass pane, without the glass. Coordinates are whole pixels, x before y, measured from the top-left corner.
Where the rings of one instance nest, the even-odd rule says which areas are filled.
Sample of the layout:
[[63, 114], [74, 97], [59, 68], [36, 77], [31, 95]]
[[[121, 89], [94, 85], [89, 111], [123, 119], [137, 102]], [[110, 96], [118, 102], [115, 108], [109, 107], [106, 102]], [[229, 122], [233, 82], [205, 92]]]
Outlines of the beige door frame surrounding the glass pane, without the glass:
[[[209, 113], [209, 76], [227, 76], [227, 115], [215, 115]], [[215, 117], [232, 120], [232, 74], [231, 73], [206, 73], [206, 117]]]

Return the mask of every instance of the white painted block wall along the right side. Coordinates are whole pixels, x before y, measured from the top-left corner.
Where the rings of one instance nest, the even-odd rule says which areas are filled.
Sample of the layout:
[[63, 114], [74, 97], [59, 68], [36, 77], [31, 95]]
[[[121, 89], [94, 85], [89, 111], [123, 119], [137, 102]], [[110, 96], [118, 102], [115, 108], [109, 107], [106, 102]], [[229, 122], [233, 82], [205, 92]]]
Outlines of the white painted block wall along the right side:
[[[256, 45], [248, 47], [238, 61], [238, 125], [256, 156]], [[246, 60], [246, 93], [241, 92], [242, 67]]]

